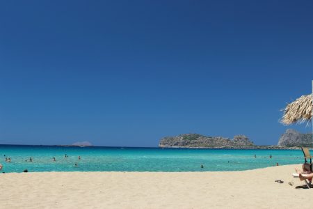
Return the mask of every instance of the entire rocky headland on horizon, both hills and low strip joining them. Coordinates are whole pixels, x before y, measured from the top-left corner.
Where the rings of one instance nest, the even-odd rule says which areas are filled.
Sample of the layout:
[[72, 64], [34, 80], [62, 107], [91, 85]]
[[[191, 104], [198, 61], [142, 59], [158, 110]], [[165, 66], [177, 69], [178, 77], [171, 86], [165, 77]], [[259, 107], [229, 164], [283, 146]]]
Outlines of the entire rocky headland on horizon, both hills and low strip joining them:
[[299, 149], [301, 146], [312, 147], [312, 134], [302, 134], [288, 129], [277, 145], [258, 146], [245, 135], [236, 135], [234, 139], [225, 137], [207, 137], [201, 134], [179, 134], [175, 137], [163, 137], [160, 148], [252, 148], [252, 149]]

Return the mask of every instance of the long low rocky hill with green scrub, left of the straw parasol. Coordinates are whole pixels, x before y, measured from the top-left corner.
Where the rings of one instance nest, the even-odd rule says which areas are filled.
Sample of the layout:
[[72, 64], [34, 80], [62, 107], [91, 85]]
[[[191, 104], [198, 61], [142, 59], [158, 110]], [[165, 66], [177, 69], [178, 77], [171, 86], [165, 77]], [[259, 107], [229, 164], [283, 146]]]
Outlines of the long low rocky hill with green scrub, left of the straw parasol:
[[164, 137], [159, 147], [167, 148], [232, 148], [254, 146], [253, 142], [244, 135], [235, 136], [234, 139], [224, 137], [206, 137], [200, 134], [181, 134], [176, 137]]

